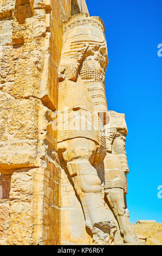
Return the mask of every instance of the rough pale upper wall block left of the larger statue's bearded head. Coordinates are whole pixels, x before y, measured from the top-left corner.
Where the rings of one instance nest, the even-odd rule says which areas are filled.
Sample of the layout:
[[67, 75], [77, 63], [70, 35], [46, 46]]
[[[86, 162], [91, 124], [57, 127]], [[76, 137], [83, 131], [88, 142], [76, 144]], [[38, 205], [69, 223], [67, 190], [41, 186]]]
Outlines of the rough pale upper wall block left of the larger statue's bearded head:
[[17, 99], [37, 97], [42, 99], [45, 106], [54, 111], [52, 99], [55, 90], [50, 90], [47, 86], [48, 74], [48, 52], [34, 50], [21, 53], [15, 65], [15, 83], [12, 85], [11, 94]]

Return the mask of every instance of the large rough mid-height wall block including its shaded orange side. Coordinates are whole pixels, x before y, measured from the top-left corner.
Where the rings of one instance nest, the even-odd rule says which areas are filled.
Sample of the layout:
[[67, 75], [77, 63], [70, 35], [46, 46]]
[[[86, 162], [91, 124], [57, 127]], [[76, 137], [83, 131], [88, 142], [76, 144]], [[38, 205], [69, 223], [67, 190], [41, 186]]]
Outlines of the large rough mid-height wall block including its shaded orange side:
[[15, 100], [1, 92], [1, 118], [1, 172], [44, 164], [44, 157], [49, 154], [44, 141], [52, 151], [55, 131], [52, 112], [41, 100]]

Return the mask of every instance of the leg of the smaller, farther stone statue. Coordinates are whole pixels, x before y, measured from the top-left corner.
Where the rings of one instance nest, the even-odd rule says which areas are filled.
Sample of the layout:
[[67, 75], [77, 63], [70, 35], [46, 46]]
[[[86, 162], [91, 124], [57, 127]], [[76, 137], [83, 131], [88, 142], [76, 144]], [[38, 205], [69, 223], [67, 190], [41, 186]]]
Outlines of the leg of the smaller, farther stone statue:
[[137, 236], [129, 220], [129, 211], [126, 206], [124, 190], [122, 188], [108, 188], [105, 190], [105, 194], [118, 220], [121, 233], [124, 235], [124, 242], [137, 243]]

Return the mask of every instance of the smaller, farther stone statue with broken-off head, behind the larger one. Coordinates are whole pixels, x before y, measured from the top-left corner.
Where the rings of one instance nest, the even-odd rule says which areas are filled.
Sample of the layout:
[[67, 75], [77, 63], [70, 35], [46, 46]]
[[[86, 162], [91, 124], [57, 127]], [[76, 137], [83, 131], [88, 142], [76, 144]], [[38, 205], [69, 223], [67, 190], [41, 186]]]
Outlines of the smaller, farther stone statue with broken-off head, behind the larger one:
[[105, 125], [106, 150], [105, 195], [118, 220], [121, 235], [125, 243], [138, 243], [127, 209], [126, 194], [128, 193], [126, 174], [129, 172], [126, 156], [127, 126], [125, 115], [109, 111], [109, 123]]

